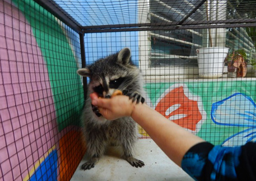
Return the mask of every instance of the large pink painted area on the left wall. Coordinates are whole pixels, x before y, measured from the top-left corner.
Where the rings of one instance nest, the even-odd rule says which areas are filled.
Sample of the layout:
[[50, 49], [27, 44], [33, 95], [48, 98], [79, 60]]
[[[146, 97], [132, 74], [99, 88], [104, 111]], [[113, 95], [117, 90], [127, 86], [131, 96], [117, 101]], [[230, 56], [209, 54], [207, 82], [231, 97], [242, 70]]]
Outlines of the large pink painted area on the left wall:
[[0, 180], [20, 180], [58, 143], [58, 130], [33, 31], [8, 0], [0, 1], [0, 9]]

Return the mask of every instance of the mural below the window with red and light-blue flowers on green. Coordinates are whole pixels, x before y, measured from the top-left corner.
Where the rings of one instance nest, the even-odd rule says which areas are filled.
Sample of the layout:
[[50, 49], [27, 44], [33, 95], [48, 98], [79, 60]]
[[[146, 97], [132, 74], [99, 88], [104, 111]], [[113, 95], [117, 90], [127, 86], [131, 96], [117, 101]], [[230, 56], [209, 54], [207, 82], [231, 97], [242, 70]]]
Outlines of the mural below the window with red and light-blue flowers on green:
[[214, 145], [256, 141], [255, 78], [150, 83], [146, 89], [152, 109]]

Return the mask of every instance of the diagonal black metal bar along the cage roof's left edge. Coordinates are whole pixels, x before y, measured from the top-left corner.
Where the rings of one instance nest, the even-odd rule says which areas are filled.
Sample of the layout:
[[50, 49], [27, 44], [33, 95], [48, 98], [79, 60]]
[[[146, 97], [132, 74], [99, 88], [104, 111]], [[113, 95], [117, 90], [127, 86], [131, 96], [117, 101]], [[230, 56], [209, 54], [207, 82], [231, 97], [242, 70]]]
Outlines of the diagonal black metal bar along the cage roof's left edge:
[[59, 20], [64, 22], [70, 28], [72, 28], [77, 33], [82, 33], [83, 30], [81, 25], [72, 18], [67, 12], [65, 12], [61, 7], [59, 7], [56, 2], [53, 0], [34, 0], [37, 4], [41, 5], [44, 9], [52, 13], [56, 16]]

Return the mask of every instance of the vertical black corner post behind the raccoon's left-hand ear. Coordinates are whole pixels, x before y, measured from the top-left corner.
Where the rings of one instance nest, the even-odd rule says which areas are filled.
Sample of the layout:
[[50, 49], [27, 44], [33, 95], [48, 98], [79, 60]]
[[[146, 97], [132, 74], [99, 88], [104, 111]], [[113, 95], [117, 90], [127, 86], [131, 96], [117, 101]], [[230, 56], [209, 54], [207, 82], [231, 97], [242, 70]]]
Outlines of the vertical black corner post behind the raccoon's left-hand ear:
[[[79, 33], [79, 38], [80, 38], [82, 68], [84, 68], [86, 66], [85, 47], [84, 47], [84, 33]], [[83, 77], [83, 96], [84, 96], [84, 100], [85, 100], [86, 97], [87, 97], [87, 77]]]

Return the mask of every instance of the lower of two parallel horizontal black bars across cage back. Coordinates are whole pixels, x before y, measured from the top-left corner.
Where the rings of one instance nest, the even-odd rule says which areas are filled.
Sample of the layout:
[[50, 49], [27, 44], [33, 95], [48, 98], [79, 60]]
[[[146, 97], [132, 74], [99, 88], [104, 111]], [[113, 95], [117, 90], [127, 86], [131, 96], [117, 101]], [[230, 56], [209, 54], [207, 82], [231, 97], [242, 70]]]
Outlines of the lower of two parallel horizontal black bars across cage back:
[[249, 24], [215, 24], [215, 25], [180, 25], [180, 26], [163, 26], [163, 27], [134, 27], [120, 29], [86, 29], [84, 33], [106, 33], [122, 31], [153, 31], [153, 30], [171, 30], [171, 29], [206, 29], [206, 28], [231, 28], [231, 27], [254, 27], [256, 23]]

